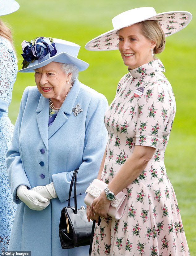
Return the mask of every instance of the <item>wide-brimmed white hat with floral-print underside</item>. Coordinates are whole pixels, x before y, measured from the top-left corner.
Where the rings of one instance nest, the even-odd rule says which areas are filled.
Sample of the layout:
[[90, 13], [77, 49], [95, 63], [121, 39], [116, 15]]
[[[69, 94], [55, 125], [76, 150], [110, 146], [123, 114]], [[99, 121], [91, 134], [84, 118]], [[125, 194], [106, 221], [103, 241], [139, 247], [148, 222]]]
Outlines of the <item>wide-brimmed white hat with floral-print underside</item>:
[[92, 51], [117, 50], [118, 34], [121, 28], [129, 27], [144, 20], [157, 20], [165, 36], [170, 36], [185, 28], [192, 19], [188, 11], [168, 11], [156, 13], [153, 7], [140, 7], [125, 11], [112, 19], [112, 30], [89, 41], [85, 48]]

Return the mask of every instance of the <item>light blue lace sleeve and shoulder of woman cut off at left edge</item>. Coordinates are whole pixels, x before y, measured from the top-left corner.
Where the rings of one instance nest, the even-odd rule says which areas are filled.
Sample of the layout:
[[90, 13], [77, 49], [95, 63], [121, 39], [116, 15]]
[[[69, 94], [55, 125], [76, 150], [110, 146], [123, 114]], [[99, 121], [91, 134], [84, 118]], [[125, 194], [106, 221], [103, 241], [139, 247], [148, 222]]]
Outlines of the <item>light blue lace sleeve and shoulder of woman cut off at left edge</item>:
[[0, 111], [6, 112], [18, 72], [17, 59], [11, 43], [0, 37]]

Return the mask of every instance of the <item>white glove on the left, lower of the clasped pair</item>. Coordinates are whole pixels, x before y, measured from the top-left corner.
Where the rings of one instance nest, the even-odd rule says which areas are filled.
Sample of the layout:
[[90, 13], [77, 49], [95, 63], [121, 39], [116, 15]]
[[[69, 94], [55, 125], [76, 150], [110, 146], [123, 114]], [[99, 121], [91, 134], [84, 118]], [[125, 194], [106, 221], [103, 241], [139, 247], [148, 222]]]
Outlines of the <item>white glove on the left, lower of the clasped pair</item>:
[[32, 210], [41, 211], [50, 204], [47, 198], [41, 196], [36, 191], [28, 190], [25, 185], [19, 185], [16, 193], [20, 200]]

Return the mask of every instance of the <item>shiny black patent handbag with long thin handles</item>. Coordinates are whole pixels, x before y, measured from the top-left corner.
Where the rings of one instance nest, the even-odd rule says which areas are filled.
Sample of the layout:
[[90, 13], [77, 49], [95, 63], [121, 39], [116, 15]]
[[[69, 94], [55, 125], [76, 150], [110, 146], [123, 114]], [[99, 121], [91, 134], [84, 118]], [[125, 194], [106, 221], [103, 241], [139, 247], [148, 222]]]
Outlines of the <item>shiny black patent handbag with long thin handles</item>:
[[[68, 206], [61, 210], [59, 223], [59, 237], [62, 249], [70, 249], [78, 246], [90, 245], [92, 221], [87, 220], [87, 210], [77, 209], [77, 175], [78, 170], [75, 169], [71, 184], [68, 199]], [[70, 206], [71, 191], [74, 183], [74, 206]]]

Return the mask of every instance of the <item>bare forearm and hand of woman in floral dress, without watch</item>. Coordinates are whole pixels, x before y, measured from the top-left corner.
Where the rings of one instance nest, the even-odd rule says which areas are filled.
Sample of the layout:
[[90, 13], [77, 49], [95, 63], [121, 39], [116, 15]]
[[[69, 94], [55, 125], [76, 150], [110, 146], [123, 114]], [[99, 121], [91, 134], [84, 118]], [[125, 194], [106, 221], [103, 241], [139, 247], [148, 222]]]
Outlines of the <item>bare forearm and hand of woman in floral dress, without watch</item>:
[[[116, 195], [131, 184], [145, 169], [147, 163], [153, 157], [155, 150], [156, 149], [152, 147], [136, 145], [133, 154], [121, 166], [116, 176], [109, 183], [108, 189]], [[100, 196], [95, 198], [92, 202], [92, 210], [88, 217], [96, 220], [98, 220], [99, 216], [107, 218], [109, 206], [110, 201], [106, 198], [105, 192], [103, 191]]]

